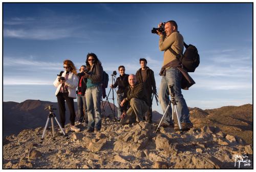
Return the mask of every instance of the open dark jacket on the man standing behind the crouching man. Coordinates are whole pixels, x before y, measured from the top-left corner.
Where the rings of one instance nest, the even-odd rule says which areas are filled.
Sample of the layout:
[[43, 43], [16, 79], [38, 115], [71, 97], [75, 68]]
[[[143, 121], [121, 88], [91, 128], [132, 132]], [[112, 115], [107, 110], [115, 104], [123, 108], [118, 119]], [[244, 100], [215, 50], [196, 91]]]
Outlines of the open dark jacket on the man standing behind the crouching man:
[[[141, 75], [141, 68], [136, 72], [136, 77], [137, 77], [137, 81], [139, 83], [142, 82], [142, 75]], [[155, 81], [155, 76], [154, 76], [154, 72], [146, 67], [146, 80], [144, 82], [145, 88], [147, 89], [147, 92], [149, 92], [150, 94], [152, 94], [152, 91], [156, 92], [156, 81]]]

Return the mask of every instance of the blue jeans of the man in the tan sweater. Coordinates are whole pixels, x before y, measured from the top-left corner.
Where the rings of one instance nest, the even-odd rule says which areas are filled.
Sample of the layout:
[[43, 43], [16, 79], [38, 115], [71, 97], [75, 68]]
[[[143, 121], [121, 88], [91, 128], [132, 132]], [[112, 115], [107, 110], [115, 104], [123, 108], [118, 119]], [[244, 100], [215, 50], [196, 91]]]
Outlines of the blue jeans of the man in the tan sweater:
[[[183, 95], [181, 94], [181, 78], [182, 73], [177, 68], [169, 68], [166, 70], [166, 75], [162, 76], [160, 89], [159, 89], [159, 102], [161, 104], [163, 112], [165, 112], [169, 102], [169, 85], [174, 84], [175, 99], [177, 102], [177, 110], [181, 115], [181, 123], [190, 123], [189, 111]], [[172, 124], [172, 106], [169, 107], [163, 122]]]

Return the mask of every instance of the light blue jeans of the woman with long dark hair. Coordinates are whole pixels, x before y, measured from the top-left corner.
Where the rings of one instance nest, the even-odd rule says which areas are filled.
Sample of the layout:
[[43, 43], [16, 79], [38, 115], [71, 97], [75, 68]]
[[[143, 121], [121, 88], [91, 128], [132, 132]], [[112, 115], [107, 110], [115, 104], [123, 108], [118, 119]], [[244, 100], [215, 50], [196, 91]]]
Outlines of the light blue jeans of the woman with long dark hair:
[[88, 110], [87, 115], [89, 130], [94, 130], [94, 127], [96, 127], [98, 130], [100, 130], [101, 128], [101, 96], [101, 85], [89, 87], [86, 89], [86, 104]]

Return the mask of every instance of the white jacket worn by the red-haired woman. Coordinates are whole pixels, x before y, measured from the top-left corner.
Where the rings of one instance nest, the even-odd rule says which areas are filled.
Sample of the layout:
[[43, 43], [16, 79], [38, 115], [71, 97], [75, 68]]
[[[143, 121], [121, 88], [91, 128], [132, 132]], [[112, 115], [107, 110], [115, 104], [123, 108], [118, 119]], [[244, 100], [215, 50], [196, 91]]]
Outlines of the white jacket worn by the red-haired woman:
[[[66, 72], [62, 73], [62, 76], [66, 76]], [[68, 86], [68, 92], [69, 92], [69, 97], [76, 98], [76, 88], [78, 86], [78, 77], [73, 73], [69, 72], [69, 78], [66, 80], [65, 84]], [[59, 89], [61, 87], [61, 83], [58, 81], [58, 76], [53, 82], [54, 86], [57, 87], [57, 90], [55, 92], [55, 96], [59, 93]]]

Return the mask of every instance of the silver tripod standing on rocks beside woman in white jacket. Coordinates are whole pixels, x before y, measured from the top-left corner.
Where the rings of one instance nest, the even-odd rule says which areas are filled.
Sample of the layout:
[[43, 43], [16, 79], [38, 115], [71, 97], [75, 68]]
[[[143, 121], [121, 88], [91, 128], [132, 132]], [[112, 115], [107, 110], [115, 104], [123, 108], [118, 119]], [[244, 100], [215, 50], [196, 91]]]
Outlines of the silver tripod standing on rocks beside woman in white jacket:
[[47, 121], [46, 121], [46, 126], [45, 126], [45, 129], [44, 129], [44, 132], [42, 133], [42, 137], [41, 137], [41, 141], [40, 143], [42, 143], [42, 141], [44, 140], [44, 137], [45, 137], [45, 134], [46, 134], [46, 128], [48, 126], [48, 123], [49, 123], [49, 120], [51, 119], [51, 122], [52, 122], [52, 136], [53, 136], [53, 140], [55, 140], [55, 137], [54, 137], [54, 122], [53, 122], [53, 118], [56, 120], [56, 122], [58, 123], [59, 127], [60, 127], [60, 130], [61, 132], [63, 133], [64, 136], [66, 136], [66, 139], [69, 139], [68, 138], [68, 135], [65, 134], [65, 132], [62, 130], [60, 124], [59, 124], [59, 121], [57, 120], [56, 118], [56, 115], [53, 113], [53, 110], [56, 110], [54, 108], [52, 108], [52, 105], [49, 105], [48, 107], [45, 108], [45, 110], [49, 110], [50, 113], [48, 115], [48, 118], [47, 118]]

